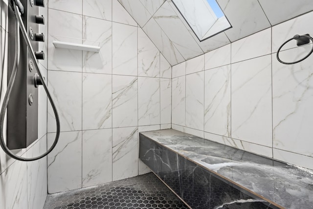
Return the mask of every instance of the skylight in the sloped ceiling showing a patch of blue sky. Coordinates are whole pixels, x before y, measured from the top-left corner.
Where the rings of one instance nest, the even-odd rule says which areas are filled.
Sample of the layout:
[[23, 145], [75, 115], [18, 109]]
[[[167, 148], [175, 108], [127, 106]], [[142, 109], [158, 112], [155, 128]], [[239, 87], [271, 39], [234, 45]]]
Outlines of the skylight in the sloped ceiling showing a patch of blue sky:
[[216, 0], [172, 0], [200, 41], [231, 28]]

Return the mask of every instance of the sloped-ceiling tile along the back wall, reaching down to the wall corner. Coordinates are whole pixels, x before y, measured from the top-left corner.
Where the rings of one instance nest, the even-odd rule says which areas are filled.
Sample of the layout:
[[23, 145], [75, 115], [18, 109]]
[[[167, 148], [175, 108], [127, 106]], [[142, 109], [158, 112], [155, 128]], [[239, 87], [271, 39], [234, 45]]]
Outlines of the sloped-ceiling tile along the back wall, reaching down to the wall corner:
[[171, 66], [185, 61], [173, 42], [167, 37], [156, 21], [151, 18], [142, 29], [146, 32], [158, 50], [166, 57]]

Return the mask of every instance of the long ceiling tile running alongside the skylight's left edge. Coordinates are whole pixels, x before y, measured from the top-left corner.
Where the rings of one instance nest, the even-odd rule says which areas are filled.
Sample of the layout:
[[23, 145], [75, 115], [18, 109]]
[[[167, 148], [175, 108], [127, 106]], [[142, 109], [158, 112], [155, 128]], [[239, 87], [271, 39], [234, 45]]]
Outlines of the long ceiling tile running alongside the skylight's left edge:
[[202, 49], [190, 35], [176, 12], [165, 1], [153, 15], [165, 34], [170, 38], [184, 59], [191, 59], [203, 54]]

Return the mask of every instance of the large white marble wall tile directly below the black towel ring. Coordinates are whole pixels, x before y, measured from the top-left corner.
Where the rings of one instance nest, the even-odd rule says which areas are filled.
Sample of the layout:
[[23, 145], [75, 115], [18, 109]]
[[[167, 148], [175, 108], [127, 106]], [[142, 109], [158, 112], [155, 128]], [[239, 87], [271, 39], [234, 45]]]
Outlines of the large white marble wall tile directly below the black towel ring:
[[[288, 62], [307, 54], [310, 46], [280, 53]], [[294, 65], [284, 65], [272, 55], [273, 68], [273, 147], [313, 157], [313, 61], [310, 57]]]

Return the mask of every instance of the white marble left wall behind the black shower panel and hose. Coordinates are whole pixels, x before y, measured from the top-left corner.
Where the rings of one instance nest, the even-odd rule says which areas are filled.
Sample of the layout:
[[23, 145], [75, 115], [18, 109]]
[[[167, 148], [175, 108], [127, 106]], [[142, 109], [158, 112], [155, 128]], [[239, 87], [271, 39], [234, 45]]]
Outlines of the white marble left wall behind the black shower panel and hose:
[[[7, 44], [8, 0], [0, 0], [0, 10], [0, 80], [2, 81], [0, 103], [2, 105], [7, 84], [7, 50], [14, 50], [14, 47]], [[41, 8], [40, 13], [47, 17], [47, 7]], [[46, 29], [46, 25], [42, 25], [40, 32], [45, 33]], [[46, 53], [45, 43], [41, 44], [40, 48]], [[40, 67], [46, 75], [45, 62], [41, 62]], [[38, 140], [25, 149], [14, 150], [15, 154], [30, 158], [46, 151], [46, 100], [44, 89], [39, 87]], [[5, 130], [6, 128], [4, 132]], [[35, 162], [20, 162], [7, 157], [0, 148], [0, 209], [42, 209], [47, 195], [46, 167], [46, 157]]]

